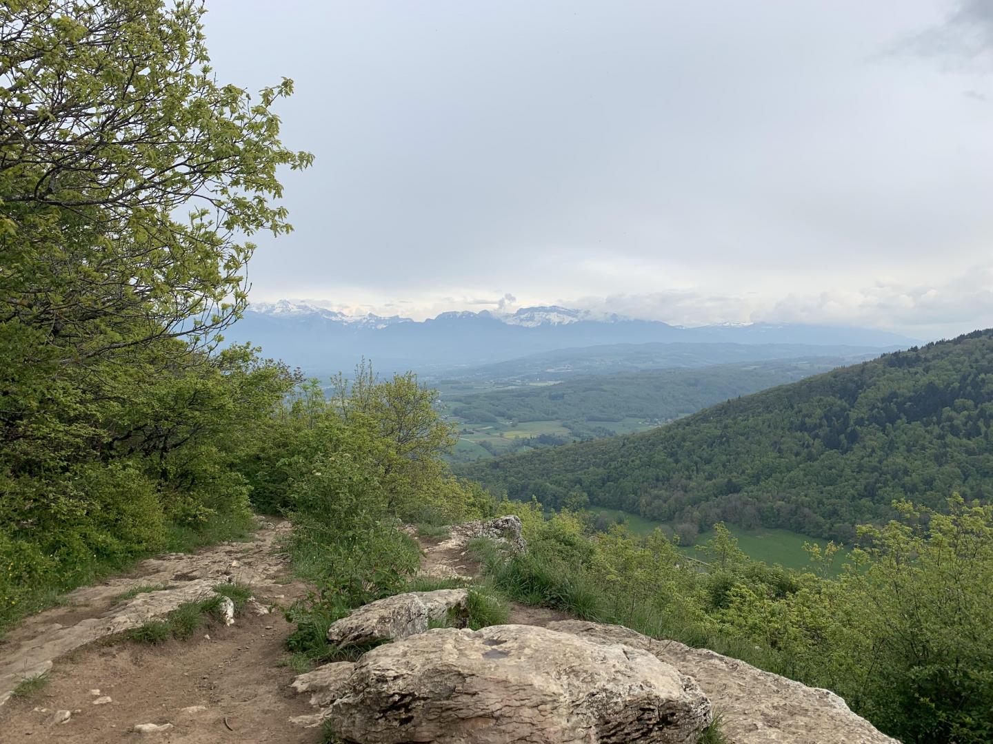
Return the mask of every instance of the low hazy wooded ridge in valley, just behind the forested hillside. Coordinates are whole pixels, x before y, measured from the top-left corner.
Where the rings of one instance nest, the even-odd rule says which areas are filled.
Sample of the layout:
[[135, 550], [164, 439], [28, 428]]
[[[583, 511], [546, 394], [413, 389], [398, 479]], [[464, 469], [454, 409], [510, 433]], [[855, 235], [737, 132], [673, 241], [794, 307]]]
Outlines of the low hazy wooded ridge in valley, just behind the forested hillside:
[[833, 359], [755, 362], [699, 369], [659, 369], [587, 377], [555, 385], [446, 395], [452, 416], [470, 422], [561, 421], [583, 432], [597, 422], [637, 418], [663, 423], [729, 398], [793, 382], [837, 366]]

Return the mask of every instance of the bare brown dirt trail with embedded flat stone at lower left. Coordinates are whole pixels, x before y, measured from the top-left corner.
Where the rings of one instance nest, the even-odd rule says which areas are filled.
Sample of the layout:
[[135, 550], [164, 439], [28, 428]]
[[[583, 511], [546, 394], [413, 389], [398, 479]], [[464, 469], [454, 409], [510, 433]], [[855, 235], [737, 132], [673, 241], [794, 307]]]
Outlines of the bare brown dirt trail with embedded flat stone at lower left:
[[[280, 665], [293, 628], [278, 611], [248, 610], [231, 627], [213, 626], [189, 641], [161, 646], [105, 640], [225, 581], [250, 584], [263, 604], [288, 604], [305, 587], [287, 582], [285, 561], [274, 553], [285, 529], [270, 523], [250, 542], [146, 560], [132, 573], [77, 589], [64, 606], [28, 618], [0, 643], [0, 695], [46, 669], [50, 682], [27, 699], [0, 706], [0, 741], [319, 742], [320, 731], [289, 722], [309, 708], [289, 687], [293, 672]], [[170, 588], [117, 599], [147, 584]], [[110, 702], [94, 702], [103, 696]], [[54, 722], [58, 710], [71, 711], [70, 719]], [[173, 727], [135, 733], [140, 723]]]

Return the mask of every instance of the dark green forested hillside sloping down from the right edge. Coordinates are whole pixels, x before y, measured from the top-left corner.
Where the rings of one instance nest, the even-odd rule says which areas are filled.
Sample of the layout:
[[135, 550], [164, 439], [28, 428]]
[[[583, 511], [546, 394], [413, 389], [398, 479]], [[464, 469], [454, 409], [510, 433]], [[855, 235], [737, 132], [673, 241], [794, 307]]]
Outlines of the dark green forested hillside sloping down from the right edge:
[[642, 434], [463, 466], [510, 496], [850, 541], [908, 499], [993, 496], [993, 331], [898, 351]]

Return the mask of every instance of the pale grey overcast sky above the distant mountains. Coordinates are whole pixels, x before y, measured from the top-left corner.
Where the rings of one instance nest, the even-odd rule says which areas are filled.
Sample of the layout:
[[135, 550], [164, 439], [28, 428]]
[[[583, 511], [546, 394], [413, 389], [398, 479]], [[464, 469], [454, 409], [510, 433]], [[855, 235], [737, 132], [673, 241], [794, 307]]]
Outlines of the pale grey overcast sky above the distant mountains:
[[207, 0], [292, 78], [255, 301], [993, 326], [991, 0]]

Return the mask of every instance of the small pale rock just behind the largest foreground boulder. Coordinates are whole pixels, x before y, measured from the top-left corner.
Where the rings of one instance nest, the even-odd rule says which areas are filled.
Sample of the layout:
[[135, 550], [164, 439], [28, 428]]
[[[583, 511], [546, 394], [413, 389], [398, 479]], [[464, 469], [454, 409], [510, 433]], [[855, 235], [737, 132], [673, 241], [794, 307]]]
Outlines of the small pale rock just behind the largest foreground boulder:
[[328, 640], [339, 646], [398, 641], [442, 622], [450, 610], [465, 608], [468, 589], [409, 591], [378, 599], [354, 610], [328, 629]]

